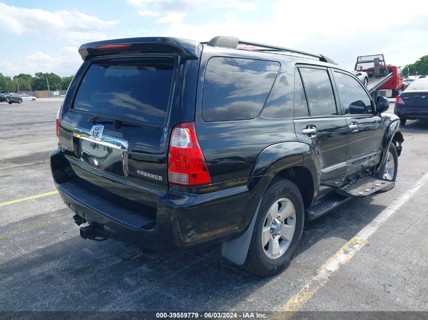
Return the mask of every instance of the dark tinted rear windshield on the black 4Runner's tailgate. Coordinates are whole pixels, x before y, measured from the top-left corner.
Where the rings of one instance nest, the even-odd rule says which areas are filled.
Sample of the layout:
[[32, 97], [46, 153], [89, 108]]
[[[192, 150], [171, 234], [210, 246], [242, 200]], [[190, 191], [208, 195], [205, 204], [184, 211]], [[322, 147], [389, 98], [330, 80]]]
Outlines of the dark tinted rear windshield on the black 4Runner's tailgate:
[[173, 58], [100, 60], [87, 70], [73, 108], [161, 125], [173, 79]]

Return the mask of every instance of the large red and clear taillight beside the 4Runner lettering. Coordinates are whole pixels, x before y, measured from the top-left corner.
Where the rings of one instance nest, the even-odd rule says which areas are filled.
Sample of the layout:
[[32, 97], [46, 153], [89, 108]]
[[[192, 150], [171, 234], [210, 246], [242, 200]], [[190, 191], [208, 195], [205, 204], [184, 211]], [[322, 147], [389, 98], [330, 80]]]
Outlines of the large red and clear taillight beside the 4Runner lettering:
[[168, 154], [168, 181], [184, 186], [211, 183], [207, 163], [194, 129], [194, 122], [177, 124], [172, 130]]

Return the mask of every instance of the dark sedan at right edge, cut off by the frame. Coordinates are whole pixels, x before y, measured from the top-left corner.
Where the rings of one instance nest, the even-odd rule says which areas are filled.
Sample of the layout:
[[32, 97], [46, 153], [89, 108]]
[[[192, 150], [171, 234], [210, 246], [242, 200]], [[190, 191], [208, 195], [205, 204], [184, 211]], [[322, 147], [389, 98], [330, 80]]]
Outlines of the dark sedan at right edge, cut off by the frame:
[[401, 125], [408, 119], [428, 119], [428, 78], [419, 78], [409, 84], [397, 97], [394, 113], [400, 117]]

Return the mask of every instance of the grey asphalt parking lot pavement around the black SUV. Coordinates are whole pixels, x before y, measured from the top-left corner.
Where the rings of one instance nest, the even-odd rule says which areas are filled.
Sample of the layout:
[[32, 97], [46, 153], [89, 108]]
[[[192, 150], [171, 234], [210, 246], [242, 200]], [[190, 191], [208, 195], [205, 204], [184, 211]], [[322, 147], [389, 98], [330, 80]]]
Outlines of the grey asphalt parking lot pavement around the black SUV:
[[261, 279], [218, 246], [148, 262], [82, 239], [48, 163], [61, 102], [0, 103], [0, 311], [428, 311], [428, 120], [401, 127], [392, 191], [306, 222], [288, 268]]

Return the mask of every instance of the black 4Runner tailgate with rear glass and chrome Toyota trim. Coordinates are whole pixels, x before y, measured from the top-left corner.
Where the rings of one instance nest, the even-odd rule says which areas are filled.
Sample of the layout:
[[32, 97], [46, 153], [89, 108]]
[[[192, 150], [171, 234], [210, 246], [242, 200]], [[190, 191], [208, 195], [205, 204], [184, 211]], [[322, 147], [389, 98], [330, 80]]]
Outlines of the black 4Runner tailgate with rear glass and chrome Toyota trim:
[[71, 158], [167, 190], [165, 123], [176, 62], [172, 55], [94, 59], [64, 110], [74, 120]]

